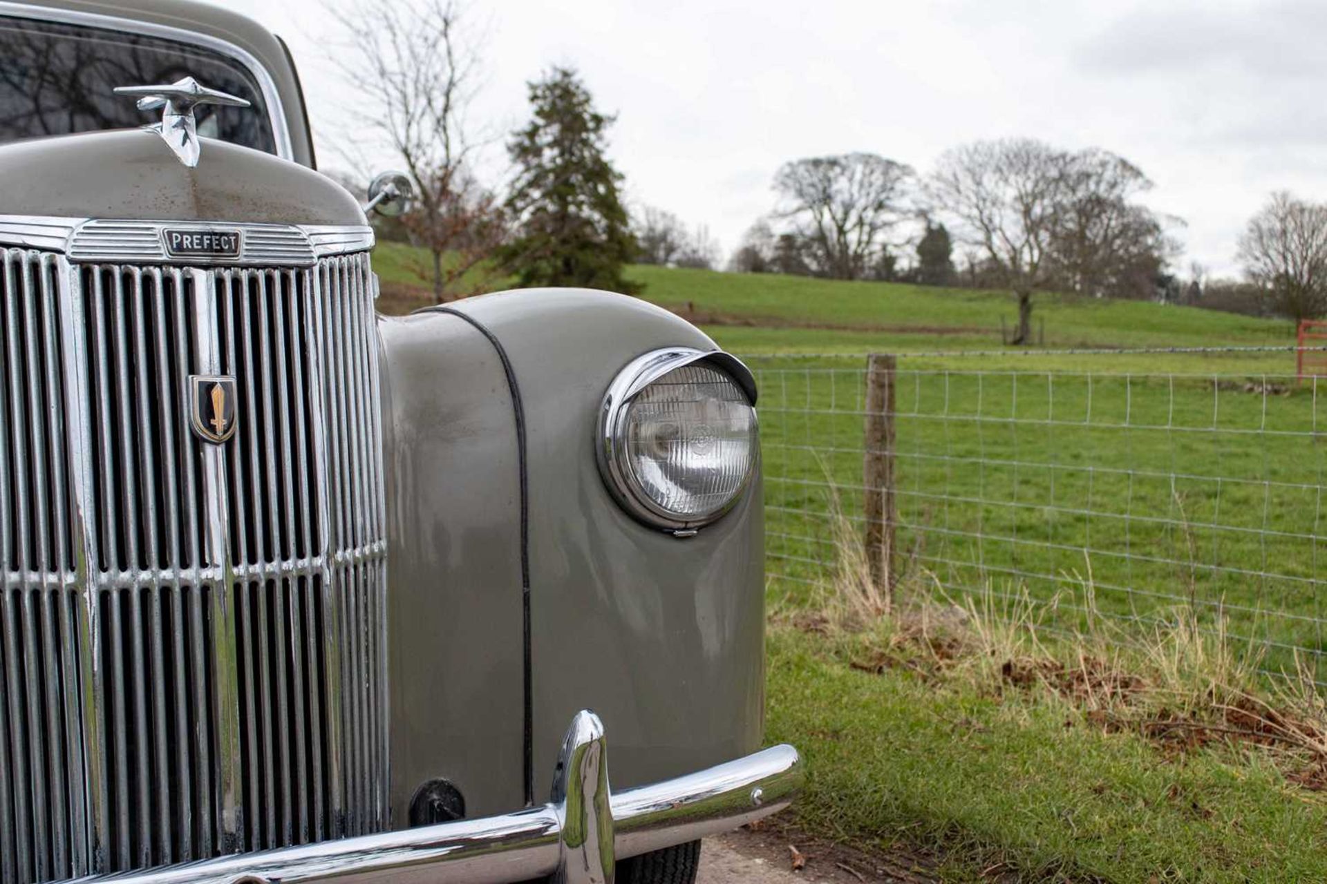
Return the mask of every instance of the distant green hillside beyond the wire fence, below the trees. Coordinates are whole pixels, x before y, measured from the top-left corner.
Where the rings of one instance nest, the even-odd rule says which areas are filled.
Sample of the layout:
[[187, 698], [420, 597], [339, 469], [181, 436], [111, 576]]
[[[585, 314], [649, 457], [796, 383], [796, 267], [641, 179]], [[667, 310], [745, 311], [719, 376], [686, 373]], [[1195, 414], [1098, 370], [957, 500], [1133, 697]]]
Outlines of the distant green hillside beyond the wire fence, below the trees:
[[[430, 302], [414, 272], [417, 249], [385, 243], [374, 257], [384, 281], [381, 307], [406, 313]], [[722, 346], [744, 355], [987, 350], [1001, 346], [1001, 321], [1016, 318], [1003, 292], [936, 289], [892, 282], [840, 282], [778, 274], [628, 268], [641, 297], [686, 315]], [[502, 288], [500, 280], [492, 282]], [[1100, 301], [1060, 294], [1035, 298], [1034, 330], [1051, 347], [1206, 347], [1289, 345], [1291, 323], [1197, 307]], [[1128, 366], [1137, 370], [1139, 364]], [[1182, 359], [1188, 370], [1220, 370]], [[1283, 371], [1286, 358], [1247, 370]], [[1052, 367], [1039, 362], [1038, 367]], [[1147, 367], [1176, 368], [1177, 360]]]

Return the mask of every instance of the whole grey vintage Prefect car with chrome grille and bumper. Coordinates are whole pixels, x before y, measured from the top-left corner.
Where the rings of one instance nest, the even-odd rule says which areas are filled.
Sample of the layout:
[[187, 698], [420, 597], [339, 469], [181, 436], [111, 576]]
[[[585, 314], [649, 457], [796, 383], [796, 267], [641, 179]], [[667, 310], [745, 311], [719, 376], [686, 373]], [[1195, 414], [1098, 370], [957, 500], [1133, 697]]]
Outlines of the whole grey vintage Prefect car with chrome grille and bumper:
[[738, 359], [377, 315], [405, 186], [214, 7], [0, 1], [0, 182], [3, 884], [681, 883], [792, 799]]

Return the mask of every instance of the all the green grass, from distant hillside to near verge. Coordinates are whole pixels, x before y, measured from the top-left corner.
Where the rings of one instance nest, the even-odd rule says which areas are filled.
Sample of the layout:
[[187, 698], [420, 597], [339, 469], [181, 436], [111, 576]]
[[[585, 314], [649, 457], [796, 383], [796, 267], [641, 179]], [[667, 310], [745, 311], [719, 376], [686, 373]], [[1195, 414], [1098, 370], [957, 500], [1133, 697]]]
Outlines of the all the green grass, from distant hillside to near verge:
[[[427, 304], [413, 260], [390, 244], [376, 258], [386, 311]], [[942, 880], [1327, 876], [1327, 802], [1262, 749], [1103, 728], [1082, 697], [1007, 691], [990, 652], [974, 665], [994, 680], [912, 661], [867, 672], [856, 639], [788, 626], [832, 607], [853, 565], [843, 526], [860, 538], [864, 354], [894, 353], [902, 598], [1030, 604], [1064, 656], [1104, 619], [1124, 624], [1121, 645], [1166, 624], [1227, 623], [1266, 669], [1291, 668], [1296, 651], [1316, 664], [1327, 415], [1314, 384], [1285, 376], [1291, 354], [1036, 355], [1002, 349], [1001, 318], [1015, 314], [1002, 293], [628, 274], [758, 374], [778, 614], [768, 738], [807, 755], [802, 824], [932, 851]], [[1294, 341], [1286, 322], [1139, 302], [1040, 294], [1035, 317], [1046, 349]], [[1192, 696], [1214, 702], [1206, 665]], [[1148, 714], [1172, 714], [1165, 691]]]

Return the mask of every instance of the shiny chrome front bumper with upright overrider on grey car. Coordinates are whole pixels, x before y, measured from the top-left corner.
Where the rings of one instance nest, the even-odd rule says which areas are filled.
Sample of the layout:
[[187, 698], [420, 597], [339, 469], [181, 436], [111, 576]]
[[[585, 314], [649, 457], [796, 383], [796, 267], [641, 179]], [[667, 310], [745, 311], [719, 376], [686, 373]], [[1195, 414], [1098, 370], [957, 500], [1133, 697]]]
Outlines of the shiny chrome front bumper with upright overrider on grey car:
[[113, 879], [117, 884], [612, 884], [617, 859], [736, 828], [787, 807], [802, 786], [792, 746], [609, 794], [604, 725], [572, 720], [541, 807], [399, 832], [240, 854]]

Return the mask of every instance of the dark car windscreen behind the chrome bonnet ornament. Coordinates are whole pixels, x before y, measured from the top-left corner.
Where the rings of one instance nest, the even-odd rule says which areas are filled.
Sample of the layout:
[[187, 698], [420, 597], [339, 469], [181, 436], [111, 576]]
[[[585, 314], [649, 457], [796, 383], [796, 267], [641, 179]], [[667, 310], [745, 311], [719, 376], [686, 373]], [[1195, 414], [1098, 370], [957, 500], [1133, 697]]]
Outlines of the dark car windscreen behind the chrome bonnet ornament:
[[159, 121], [115, 86], [194, 77], [247, 98], [249, 107], [203, 105], [198, 134], [276, 152], [263, 93], [236, 60], [159, 37], [0, 16], [0, 143], [20, 138], [131, 129]]

